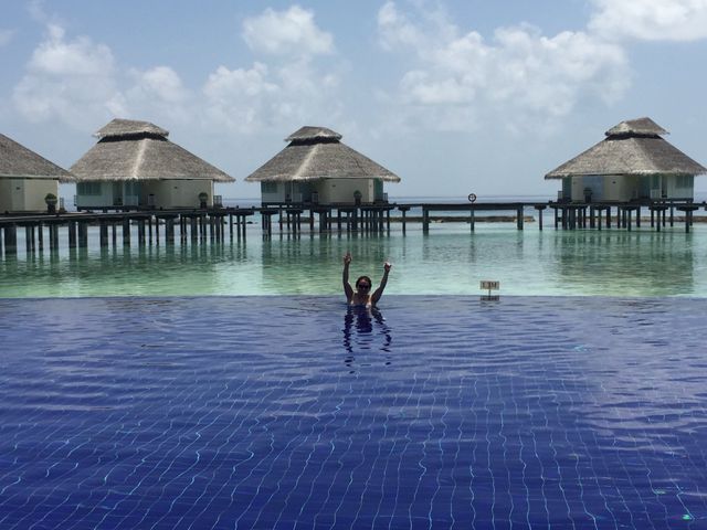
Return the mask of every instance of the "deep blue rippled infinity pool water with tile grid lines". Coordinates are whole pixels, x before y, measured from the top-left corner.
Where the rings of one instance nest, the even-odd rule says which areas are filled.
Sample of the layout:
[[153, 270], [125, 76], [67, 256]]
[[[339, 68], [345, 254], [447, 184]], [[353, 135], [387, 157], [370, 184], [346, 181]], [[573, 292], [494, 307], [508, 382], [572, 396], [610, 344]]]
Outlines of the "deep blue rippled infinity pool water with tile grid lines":
[[2, 299], [0, 528], [704, 528], [706, 310]]

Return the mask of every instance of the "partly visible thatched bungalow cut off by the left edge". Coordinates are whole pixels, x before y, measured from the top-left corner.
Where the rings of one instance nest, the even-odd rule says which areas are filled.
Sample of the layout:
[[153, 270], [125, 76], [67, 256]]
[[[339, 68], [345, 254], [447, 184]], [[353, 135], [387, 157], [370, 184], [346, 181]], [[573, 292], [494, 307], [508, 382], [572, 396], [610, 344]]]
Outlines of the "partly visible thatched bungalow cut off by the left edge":
[[40, 212], [55, 206], [65, 169], [0, 134], [0, 212]]

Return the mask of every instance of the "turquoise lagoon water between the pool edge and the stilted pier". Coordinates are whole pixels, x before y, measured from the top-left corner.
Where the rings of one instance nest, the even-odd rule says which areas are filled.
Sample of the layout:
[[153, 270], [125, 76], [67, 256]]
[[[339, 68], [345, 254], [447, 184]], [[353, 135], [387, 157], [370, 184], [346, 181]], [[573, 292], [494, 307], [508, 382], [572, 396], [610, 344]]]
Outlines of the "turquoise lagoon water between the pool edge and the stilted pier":
[[[534, 214], [535, 212], [527, 212]], [[253, 218], [252, 218], [253, 219]], [[644, 223], [626, 230], [545, 230], [527, 222], [433, 223], [424, 234], [399, 223], [382, 234], [324, 233], [308, 226], [300, 235], [263, 240], [257, 219], [245, 241], [179, 241], [139, 248], [118, 244], [101, 250], [97, 229], [87, 251], [27, 255], [20, 231], [17, 256], [0, 261], [0, 297], [336, 295], [341, 292], [341, 257], [354, 255], [351, 276], [372, 276], [382, 264], [393, 269], [387, 293], [477, 295], [479, 282], [500, 282], [502, 296], [707, 297], [707, 224], [657, 232]], [[134, 229], [136, 230], [136, 229]]]

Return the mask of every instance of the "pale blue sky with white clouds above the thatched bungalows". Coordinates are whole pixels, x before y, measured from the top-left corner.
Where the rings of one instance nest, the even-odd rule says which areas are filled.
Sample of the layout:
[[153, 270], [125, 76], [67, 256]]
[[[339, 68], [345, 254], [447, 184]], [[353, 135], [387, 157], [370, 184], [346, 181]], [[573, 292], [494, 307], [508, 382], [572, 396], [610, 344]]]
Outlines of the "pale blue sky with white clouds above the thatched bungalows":
[[244, 178], [305, 125], [400, 176], [391, 198], [557, 197], [548, 171], [644, 116], [707, 165], [707, 0], [2, 0], [0, 14], [0, 132], [66, 169], [116, 117], [234, 177], [225, 199], [258, 197]]

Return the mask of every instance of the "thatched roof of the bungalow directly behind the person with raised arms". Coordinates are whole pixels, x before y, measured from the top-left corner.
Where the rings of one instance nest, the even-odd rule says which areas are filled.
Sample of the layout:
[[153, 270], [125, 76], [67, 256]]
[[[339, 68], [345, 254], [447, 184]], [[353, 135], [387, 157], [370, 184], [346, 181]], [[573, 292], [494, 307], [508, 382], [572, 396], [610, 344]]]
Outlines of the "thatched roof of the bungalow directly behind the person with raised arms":
[[400, 177], [351, 149], [341, 135], [326, 127], [302, 127], [285, 141], [289, 145], [246, 177], [247, 182], [282, 182], [316, 179], [381, 179]]

